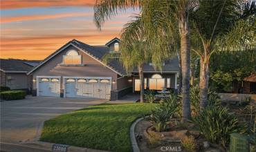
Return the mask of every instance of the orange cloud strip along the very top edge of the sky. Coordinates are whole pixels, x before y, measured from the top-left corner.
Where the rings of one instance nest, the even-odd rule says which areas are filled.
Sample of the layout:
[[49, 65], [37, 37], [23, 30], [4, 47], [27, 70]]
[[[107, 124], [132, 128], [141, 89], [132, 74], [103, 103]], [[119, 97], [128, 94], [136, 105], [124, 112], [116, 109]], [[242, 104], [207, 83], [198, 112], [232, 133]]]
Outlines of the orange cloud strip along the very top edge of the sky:
[[94, 6], [95, 0], [1, 0], [1, 9], [49, 6]]

